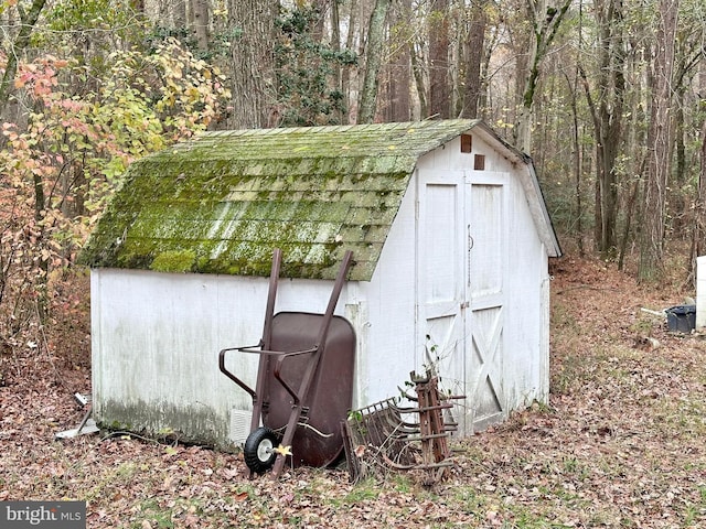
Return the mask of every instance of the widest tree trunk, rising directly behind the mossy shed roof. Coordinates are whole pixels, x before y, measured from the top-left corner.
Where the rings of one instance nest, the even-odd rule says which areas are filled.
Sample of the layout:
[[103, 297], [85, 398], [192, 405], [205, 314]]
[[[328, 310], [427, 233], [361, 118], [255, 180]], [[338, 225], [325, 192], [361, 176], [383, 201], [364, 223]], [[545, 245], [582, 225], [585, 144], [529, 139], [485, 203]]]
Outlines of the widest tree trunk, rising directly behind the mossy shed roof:
[[276, 122], [275, 18], [277, 0], [229, 0], [233, 114], [228, 126], [257, 129]]

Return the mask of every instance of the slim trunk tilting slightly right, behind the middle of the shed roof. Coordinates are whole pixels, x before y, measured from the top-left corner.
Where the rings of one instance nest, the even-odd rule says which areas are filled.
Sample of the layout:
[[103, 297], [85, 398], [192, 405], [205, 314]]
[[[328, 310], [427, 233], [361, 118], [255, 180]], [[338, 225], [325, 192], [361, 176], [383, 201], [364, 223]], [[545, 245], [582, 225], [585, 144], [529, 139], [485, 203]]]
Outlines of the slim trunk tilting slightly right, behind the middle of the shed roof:
[[377, 86], [381, 64], [383, 62], [383, 47], [385, 45], [385, 19], [389, 11], [391, 0], [376, 0], [371, 23], [367, 31], [367, 45], [365, 50], [365, 77], [361, 89], [361, 105], [357, 112], [359, 123], [372, 123], [375, 119], [377, 104]]

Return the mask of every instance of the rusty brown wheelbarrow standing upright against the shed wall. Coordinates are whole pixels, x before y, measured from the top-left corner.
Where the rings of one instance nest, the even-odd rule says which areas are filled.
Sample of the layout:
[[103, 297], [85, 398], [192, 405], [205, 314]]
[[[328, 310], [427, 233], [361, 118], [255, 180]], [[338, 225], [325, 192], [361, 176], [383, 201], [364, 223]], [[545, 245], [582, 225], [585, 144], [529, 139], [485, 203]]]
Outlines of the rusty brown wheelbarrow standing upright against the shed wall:
[[[287, 457], [299, 466], [328, 466], [343, 452], [341, 422], [353, 398], [355, 333], [335, 316], [345, 276], [347, 251], [333, 284], [327, 311], [275, 314], [281, 250], [272, 256], [263, 337], [254, 346], [229, 347], [218, 354], [218, 367], [253, 398], [250, 433], [244, 457], [250, 475], [271, 468], [278, 477]], [[226, 367], [231, 352], [258, 354], [255, 389]]]

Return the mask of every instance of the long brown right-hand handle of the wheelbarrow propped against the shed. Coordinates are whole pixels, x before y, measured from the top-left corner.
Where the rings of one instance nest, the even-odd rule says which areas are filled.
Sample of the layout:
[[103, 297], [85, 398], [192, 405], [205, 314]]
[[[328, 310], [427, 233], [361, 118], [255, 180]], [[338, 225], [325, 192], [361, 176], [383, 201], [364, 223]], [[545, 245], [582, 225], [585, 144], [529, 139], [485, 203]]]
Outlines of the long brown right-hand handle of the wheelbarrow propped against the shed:
[[[313, 348], [315, 353], [313, 353], [313, 357], [311, 358], [311, 363], [307, 367], [304, 371], [301, 384], [299, 385], [299, 391], [297, 395], [299, 396], [298, 402], [306, 398], [309, 392], [309, 388], [311, 386], [311, 381], [313, 380], [313, 375], [319, 367], [319, 363], [321, 360], [321, 349], [323, 344], [325, 343], [327, 336], [329, 334], [329, 327], [331, 325], [331, 320], [333, 319], [333, 312], [335, 310], [335, 305], [339, 302], [339, 296], [341, 295], [341, 291], [343, 290], [343, 283], [345, 281], [345, 276], [347, 274], [349, 268], [351, 266], [353, 252], [347, 250], [345, 256], [343, 257], [343, 262], [341, 263], [341, 268], [339, 269], [339, 274], [335, 278], [335, 282], [333, 283], [333, 291], [331, 292], [331, 298], [329, 299], [329, 305], [327, 306], [327, 312], [323, 315], [323, 320], [321, 322], [321, 330], [319, 332], [319, 336], [317, 343]], [[281, 367], [281, 366], [279, 366]], [[276, 378], [284, 384], [277, 375]], [[287, 389], [288, 386], [285, 385]], [[287, 391], [291, 392], [289, 389]], [[297, 400], [297, 399], [296, 399]], [[289, 422], [287, 423], [287, 428], [285, 429], [285, 434], [282, 435], [281, 444], [284, 446], [291, 445], [291, 441], [295, 436], [295, 431], [297, 429], [297, 423], [299, 422], [299, 417], [301, 415], [301, 407], [299, 403], [292, 403], [292, 410], [289, 414]], [[285, 467], [286, 455], [282, 453], [277, 454], [277, 458], [275, 460], [275, 465], [272, 467], [272, 478], [279, 477]]]

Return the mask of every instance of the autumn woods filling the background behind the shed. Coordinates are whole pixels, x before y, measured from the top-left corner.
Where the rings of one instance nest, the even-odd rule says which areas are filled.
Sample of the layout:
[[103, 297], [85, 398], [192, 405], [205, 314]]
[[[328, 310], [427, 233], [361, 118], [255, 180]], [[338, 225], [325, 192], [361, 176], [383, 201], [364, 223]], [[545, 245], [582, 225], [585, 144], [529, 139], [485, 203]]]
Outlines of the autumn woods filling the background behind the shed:
[[481, 118], [530, 153], [567, 248], [694, 281], [703, 0], [3, 0], [0, 348], [50, 348], [135, 159], [199, 130]]

